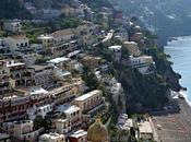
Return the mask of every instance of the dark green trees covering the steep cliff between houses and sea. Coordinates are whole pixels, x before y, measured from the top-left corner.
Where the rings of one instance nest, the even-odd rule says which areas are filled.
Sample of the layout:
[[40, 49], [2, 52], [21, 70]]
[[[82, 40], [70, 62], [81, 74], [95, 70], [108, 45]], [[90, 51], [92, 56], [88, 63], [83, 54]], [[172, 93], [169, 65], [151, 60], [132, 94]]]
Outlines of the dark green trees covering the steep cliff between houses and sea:
[[[133, 33], [132, 29], [129, 29], [129, 32]], [[168, 103], [167, 92], [171, 86], [171, 83], [167, 81], [166, 72], [174, 74], [170, 62], [167, 61], [167, 56], [163, 49], [158, 48], [155, 44], [156, 36], [146, 31], [143, 31], [143, 33], [147, 37], [146, 47], [143, 52], [153, 56], [156, 62], [156, 71], [153, 74], [143, 75], [136, 69], [130, 67], [128, 64], [129, 54], [126, 48], [122, 48], [123, 61], [121, 62], [115, 62], [112, 60], [112, 54], [107, 49], [108, 46], [102, 45], [103, 47], [100, 47], [99, 50], [99, 54], [103, 55], [106, 60], [112, 62], [112, 74], [120, 80], [124, 87], [129, 113], [130, 110], [134, 113], [163, 108], [163, 106]], [[111, 44], [120, 43], [115, 42]]]

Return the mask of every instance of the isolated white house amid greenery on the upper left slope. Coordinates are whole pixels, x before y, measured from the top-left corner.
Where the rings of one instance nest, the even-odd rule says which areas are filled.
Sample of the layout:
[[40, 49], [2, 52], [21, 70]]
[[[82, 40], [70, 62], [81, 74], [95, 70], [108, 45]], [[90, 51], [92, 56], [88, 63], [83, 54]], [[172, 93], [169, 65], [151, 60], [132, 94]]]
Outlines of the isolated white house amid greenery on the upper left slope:
[[11, 32], [21, 32], [21, 22], [4, 22], [4, 29]]

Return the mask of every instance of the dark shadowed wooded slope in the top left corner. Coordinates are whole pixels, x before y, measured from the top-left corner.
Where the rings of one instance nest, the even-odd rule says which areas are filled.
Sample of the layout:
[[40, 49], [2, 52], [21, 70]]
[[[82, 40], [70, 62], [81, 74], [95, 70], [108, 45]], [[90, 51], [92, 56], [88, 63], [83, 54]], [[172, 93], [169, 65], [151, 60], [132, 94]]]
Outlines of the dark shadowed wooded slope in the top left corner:
[[0, 19], [32, 19], [19, 0], [0, 0]]

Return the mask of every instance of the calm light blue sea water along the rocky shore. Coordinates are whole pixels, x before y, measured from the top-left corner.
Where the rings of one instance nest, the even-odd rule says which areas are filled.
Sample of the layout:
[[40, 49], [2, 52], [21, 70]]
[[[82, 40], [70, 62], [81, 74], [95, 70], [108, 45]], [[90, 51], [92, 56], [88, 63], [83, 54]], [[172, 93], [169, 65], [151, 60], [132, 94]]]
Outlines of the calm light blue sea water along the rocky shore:
[[191, 105], [191, 36], [169, 42], [165, 52], [171, 56], [169, 60], [174, 62], [174, 70], [182, 75], [180, 84], [188, 88], [184, 95]]

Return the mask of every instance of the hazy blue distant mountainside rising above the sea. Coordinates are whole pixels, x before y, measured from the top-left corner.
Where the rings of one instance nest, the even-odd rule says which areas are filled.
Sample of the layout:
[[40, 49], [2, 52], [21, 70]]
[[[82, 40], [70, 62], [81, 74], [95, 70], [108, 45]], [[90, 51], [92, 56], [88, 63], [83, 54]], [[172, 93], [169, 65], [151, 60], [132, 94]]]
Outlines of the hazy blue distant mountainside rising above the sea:
[[162, 42], [170, 36], [190, 35], [190, 0], [110, 0], [126, 14], [138, 16], [140, 22], [155, 32]]

